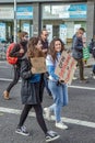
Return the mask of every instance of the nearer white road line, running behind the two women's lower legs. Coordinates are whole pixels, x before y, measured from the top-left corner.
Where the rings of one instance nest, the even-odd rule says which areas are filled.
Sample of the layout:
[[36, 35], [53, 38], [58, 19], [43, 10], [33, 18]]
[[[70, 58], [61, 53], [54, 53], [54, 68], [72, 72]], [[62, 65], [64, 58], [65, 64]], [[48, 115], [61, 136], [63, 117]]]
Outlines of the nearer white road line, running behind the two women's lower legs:
[[[0, 107], [0, 112], [20, 114], [21, 110]], [[29, 112], [28, 116], [34, 118], [36, 117], [35, 112]], [[51, 116], [51, 120], [52, 121], [55, 120], [55, 116]], [[95, 122], [82, 121], [82, 120], [70, 119], [70, 118], [62, 118], [62, 121], [67, 123], [87, 127], [87, 128], [95, 128]]]

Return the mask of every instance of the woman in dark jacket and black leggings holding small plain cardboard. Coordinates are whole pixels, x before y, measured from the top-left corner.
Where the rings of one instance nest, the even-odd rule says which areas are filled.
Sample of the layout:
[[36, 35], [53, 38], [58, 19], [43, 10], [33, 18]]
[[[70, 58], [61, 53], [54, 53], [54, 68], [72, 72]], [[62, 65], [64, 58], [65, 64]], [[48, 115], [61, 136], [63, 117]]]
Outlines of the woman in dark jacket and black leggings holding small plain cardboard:
[[44, 53], [41, 52], [41, 42], [38, 37], [32, 37], [28, 41], [27, 53], [21, 63], [21, 99], [24, 105], [24, 109], [21, 113], [20, 122], [15, 130], [15, 133], [22, 135], [29, 135], [24, 122], [28, 116], [28, 112], [34, 108], [36, 113], [36, 119], [45, 133], [46, 142], [57, 140], [59, 135], [54, 131], [48, 131], [41, 109], [40, 101], [40, 76], [41, 74], [35, 74], [35, 68], [32, 66], [31, 58], [33, 57], [43, 57]]

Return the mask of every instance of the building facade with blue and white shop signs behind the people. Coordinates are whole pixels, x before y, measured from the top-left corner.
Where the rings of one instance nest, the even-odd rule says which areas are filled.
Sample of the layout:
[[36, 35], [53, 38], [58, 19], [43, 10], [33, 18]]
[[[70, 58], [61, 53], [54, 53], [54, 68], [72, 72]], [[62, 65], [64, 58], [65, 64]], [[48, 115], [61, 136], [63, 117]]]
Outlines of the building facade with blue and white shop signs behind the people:
[[90, 42], [95, 34], [94, 25], [94, 0], [0, 0], [0, 41], [12, 41], [14, 31], [27, 31], [33, 36], [46, 28], [49, 41], [59, 36], [68, 44], [83, 26]]

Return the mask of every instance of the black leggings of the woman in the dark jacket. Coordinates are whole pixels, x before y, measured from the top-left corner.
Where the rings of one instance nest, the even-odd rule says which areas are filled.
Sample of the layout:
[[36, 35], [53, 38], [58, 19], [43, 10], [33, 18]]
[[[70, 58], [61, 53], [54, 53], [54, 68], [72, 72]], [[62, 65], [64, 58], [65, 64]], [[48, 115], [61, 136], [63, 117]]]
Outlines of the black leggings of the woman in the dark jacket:
[[34, 108], [35, 112], [36, 112], [36, 119], [38, 124], [40, 125], [41, 130], [44, 131], [44, 133], [47, 133], [47, 127], [43, 117], [43, 109], [40, 105], [25, 105], [22, 113], [21, 113], [21, 118], [20, 118], [20, 123], [19, 127], [22, 127], [28, 116], [29, 110], [32, 109], [32, 107]]

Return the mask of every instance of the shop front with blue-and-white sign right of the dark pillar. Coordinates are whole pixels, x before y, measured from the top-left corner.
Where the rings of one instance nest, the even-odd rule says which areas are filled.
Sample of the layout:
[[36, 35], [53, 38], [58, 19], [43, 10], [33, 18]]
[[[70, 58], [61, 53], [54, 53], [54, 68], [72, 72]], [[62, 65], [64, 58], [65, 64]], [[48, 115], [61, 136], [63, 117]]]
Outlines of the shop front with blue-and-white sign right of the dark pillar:
[[43, 4], [41, 28], [48, 30], [49, 41], [58, 36], [66, 44], [70, 44], [79, 28], [86, 30], [86, 3]]

